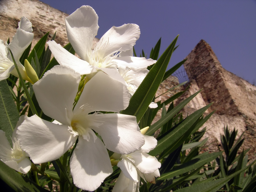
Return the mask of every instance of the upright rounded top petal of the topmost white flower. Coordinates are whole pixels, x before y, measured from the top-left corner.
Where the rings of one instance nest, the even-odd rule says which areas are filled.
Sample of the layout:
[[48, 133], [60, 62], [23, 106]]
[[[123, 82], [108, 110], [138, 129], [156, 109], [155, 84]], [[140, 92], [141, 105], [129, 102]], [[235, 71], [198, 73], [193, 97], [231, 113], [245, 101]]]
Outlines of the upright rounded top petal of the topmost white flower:
[[82, 60], [92, 50], [92, 40], [97, 35], [98, 15], [90, 6], [82, 6], [65, 19], [68, 40]]

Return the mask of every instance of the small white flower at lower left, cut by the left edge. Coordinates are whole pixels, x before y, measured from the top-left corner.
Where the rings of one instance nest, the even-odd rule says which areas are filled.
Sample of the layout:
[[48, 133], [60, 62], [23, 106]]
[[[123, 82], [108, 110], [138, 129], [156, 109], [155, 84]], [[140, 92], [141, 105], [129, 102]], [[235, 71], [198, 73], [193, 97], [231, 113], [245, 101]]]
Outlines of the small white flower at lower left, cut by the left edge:
[[31, 161], [28, 154], [20, 148], [19, 141], [16, 139], [17, 127], [24, 121], [25, 116], [21, 116], [13, 133], [12, 147], [5, 136], [5, 132], [0, 130], [0, 159], [12, 169], [21, 173], [27, 173], [31, 168]]

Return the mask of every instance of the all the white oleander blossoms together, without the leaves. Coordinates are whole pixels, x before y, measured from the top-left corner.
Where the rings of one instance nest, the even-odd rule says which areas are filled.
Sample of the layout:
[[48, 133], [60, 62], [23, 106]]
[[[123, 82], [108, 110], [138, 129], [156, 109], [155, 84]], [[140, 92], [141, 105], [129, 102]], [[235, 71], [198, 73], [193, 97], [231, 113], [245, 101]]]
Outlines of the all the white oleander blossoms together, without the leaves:
[[0, 80], [10, 74], [18, 76], [10, 49], [22, 78], [34, 83], [40, 108], [54, 120], [21, 116], [13, 132], [12, 148], [0, 130], [1, 160], [27, 173], [31, 167], [28, 157], [34, 164], [41, 164], [60, 158], [73, 147], [73, 182], [78, 188], [93, 191], [113, 172], [109, 150], [115, 152], [111, 159], [117, 160], [122, 170], [113, 191], [139, 191], [140, 177], [154, 182], [160, 176], [161, 164], [147, 154], [157, 141], [140, 132], [135, 116], [119, 112], [128, 107], [131, 96], [148, 74], [147, 67], [156, 61], [132, 56], [140, 36], [136, 24], [110, 28], [93, 48], [99, 26], [92, 7], [80, 7], [65, 22], [68, 40], [80, 58], [49, 41], [60, 65], [45, 72], [40, 80], [29, 78], [19, 62], [33, 39], [32, 24], [27, 18], [21, 19], [9, 45], [0, 41]]

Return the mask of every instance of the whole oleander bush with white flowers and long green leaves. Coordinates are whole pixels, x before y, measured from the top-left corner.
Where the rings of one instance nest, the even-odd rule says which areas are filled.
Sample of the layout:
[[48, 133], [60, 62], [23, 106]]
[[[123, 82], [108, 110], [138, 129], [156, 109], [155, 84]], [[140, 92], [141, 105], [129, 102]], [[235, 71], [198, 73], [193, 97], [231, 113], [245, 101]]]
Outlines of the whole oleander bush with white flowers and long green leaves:
[[[213, 112], [203, 114], [211, 104], [186, 118], [180, 113], [201, 90], [177, 106], [173, 100], [186, 90], [155, 102], [161, 82], [185, 62], [166, 71], [178, 36], [158, 58], [160, 39], [146, 59], [133, 48], [136, 24], [113, 26], [95, 46], [99, 26], [92, 7], [80, 7], [65, 24], [70, 43], [64, 47], [54, 41], [56, 33], [47, 42], [47, 33], [31, 49], [26, 17], [11, 42], [0, 40], [2, 190], [255, 189], [256, 167], [247, 164], [248, 150], [236, 156], [243, 140], [233, 146], [235, 129], [227, 127], [222, 137], [225, 154], [202, 151], [202, 126]], [[162, 117], [152, 123], [160, 109]]]

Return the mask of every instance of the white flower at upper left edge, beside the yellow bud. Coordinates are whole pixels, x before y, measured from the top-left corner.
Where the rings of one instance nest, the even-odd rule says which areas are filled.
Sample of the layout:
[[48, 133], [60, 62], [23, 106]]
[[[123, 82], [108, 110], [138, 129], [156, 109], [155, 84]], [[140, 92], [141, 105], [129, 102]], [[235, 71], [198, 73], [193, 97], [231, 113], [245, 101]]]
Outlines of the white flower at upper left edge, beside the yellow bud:
[[12, 42], [9, 45], [5, 45], [4, 41], [0, 39], [0, 81], [7, 79], [10, 74], [19, 77], [12, 61], [12, 56], [8, 51], [9, 48], [12, 51], [22, 78], [31, 82], [27, 76], [24, 66], [20, 63], [20, 57], [34, 38], [34, 34], [32, 33], [32, 24], [26, 17], [22, 17], [18, 26], [17, 32], [13, 36]]

